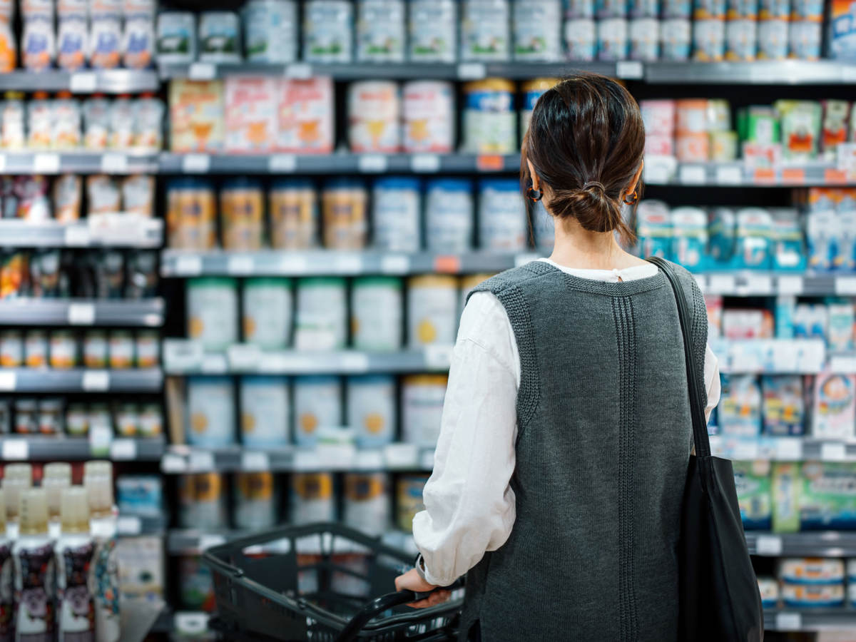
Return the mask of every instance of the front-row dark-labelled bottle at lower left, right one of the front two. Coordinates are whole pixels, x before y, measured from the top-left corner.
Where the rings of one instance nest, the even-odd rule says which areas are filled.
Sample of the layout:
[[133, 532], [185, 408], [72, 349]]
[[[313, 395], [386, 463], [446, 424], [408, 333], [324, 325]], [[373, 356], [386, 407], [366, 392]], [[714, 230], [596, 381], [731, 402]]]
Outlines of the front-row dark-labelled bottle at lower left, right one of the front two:
[[95, 544], [89, 535], [89, 498], [80, 486], [61, 492], [62, 534], [56, 558], [57, 642], [95, 641], [95, 603], [89, 589]]

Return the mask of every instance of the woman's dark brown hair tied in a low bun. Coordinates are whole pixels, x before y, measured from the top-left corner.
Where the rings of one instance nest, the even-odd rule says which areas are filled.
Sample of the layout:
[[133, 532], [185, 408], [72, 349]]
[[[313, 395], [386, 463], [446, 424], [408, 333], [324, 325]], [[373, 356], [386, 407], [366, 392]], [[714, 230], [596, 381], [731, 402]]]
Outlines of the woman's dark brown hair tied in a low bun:
[[522, 147], [520, 178], [531, 185], [528, 159], [549, 187], [554, 217], [633, 239], [621, 202], [642, 163], [645, 126], [627, 89], [598, 74], [562, 80], [538, 98]]

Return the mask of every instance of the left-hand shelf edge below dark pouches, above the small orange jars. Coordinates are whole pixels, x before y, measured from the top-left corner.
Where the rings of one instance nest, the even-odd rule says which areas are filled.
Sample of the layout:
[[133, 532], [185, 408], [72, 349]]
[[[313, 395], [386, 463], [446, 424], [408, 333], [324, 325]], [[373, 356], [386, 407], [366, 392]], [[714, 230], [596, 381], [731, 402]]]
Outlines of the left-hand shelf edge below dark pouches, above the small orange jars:
[[163, 299], [0, 300], [0, 325], [163, 325]]

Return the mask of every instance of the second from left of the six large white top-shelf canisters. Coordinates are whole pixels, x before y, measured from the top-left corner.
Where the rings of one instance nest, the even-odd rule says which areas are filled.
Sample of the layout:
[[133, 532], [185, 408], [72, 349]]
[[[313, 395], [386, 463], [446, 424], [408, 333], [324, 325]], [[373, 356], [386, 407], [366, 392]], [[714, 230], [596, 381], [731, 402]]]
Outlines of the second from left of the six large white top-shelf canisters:
[[303, 6], [303, 59], [351, 62], [354, 7], [350, 0], [309, 0]]

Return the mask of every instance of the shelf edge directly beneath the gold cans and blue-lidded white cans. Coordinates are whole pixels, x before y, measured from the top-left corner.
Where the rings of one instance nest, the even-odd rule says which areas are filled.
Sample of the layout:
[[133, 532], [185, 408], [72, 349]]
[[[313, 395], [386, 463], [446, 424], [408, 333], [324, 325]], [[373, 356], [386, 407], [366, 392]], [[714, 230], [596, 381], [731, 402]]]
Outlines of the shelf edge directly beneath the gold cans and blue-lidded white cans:
[[[188, 252], [164, 250], [161, 276], [305, 276], [361, 274], [475, 274], [500, 272], [538, 254], [337, 252], [332, 250]], [[853, 279], [856, 282], [856, 277]]]

